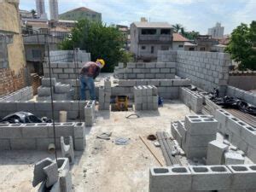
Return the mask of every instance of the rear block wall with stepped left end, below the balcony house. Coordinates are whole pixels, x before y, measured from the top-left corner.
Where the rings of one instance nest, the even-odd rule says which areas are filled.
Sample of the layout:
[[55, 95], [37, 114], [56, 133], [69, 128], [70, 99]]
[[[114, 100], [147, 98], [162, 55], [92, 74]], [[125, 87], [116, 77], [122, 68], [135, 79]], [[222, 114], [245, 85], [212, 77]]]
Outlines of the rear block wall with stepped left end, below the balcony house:
[[175, 79], [175, 73], [175, 62], [128, 62], [114, 71], [119, 79]]

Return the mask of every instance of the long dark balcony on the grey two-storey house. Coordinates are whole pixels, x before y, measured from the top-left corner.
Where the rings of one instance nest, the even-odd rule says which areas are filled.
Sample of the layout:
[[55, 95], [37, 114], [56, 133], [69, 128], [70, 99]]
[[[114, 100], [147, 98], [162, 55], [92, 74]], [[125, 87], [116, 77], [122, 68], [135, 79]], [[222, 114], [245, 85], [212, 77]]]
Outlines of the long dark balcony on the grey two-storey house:
[[152, 44], [170, 44], [172, 43], [172, 35], [139, 35], [139, 43]]

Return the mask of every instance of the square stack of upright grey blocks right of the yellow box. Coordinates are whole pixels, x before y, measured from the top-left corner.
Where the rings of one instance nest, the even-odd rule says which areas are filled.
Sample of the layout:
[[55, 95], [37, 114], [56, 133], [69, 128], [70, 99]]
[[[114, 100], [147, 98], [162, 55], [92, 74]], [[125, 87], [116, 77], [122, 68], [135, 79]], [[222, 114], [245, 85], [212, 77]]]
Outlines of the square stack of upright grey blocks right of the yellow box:
[[154, 85], [134, 86], [135, 110], [157, 110], [158, 91]]

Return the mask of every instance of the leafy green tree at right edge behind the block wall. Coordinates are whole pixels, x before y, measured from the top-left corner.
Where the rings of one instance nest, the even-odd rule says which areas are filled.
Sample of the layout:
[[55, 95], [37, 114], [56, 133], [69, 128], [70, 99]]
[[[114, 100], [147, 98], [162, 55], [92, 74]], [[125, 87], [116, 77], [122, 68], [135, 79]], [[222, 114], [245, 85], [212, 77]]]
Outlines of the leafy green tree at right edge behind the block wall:
[[241, 23], [231, 33], [230, 43], [225, 49], [230, 53], [231, 59], [239, 62], [241, 70], [256, 70], [256, 21], [253, 20], [250, 26]]

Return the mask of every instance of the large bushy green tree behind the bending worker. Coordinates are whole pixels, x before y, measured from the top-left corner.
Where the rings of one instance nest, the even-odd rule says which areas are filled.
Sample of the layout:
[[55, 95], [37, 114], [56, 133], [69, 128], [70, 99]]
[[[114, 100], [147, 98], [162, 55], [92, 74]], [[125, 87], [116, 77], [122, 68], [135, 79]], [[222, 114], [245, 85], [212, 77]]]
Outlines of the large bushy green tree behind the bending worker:
[[92, 61], [102, 58], [106, 61], [103, 72], [113, 72], [114, 66], [122, 60], [124, 36], [115, 26], [106, 26], [102, 22], [79, 20], [71, 32], [71, 37], [64, 39], [61, 49], [79, 47], [90, 52]]

